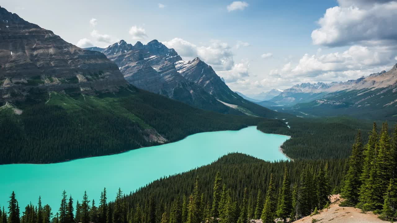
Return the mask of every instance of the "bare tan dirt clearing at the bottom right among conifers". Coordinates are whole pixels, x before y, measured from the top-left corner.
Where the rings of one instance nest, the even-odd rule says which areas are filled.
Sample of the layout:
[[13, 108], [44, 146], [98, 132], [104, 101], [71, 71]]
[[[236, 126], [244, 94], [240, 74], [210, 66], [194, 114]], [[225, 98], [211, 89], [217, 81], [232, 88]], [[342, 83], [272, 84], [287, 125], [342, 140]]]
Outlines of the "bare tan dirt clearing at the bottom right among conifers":
[[386, 223], [372, 213], [361, 213], [361, 210], [353, 207], [340, 207], [339, 194], [332, 195], [330, 208], [320, 211], [320, 214], [307, 216], [294, 223], [312, 223], [312, 219], [318, 219], [318, 223]]

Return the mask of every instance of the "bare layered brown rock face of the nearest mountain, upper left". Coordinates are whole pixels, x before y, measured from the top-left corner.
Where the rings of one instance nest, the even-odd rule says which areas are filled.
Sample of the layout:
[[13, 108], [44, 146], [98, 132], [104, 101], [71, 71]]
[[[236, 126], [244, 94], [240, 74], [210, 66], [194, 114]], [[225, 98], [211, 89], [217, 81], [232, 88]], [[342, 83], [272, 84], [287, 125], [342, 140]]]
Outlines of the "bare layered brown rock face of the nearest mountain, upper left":
[[126, 85], [116, 64], [0, 7], [0, 102], [21, 101], [34, 88], [95, 94]]

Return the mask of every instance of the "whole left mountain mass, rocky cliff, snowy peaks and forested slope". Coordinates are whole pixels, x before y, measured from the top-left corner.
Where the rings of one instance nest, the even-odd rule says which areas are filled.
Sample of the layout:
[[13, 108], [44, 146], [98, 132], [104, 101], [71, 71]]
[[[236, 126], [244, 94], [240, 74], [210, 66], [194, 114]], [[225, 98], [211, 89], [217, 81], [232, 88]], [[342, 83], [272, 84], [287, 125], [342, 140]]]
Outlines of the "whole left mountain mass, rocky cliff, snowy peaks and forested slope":
[[[0, 35], [2, 164], [114, 154], [282, 115], [241, 98], [210, 66], [181, 61], [156, 40], [95, 48], [108, 59], [1, 7]], [[196, 108], [177, 101], [187, 98]]]

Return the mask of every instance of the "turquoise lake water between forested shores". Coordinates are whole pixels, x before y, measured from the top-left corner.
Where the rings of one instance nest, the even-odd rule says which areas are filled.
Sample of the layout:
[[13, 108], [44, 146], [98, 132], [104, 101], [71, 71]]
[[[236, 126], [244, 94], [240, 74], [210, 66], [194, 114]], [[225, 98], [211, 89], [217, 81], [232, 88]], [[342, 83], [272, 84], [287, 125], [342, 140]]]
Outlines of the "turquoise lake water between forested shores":
[[55, 214], [61, 194], [66, 190], [82, 200], [87, 190], [89, 200], [99, 203], [106, 187], [108, 201], [114, 200], [119, 187], [124, 193], [164, 176], [206, 165], [230, 152], [241, 152], [269, 160], [287, 160], [279, 146], [289, 137], [265, 134], [255, 126], [239, 131], [198, 133], [178, 142], [131, 150], [122, 154], [72, 160], [53, 164], [0, 165], [0, 205], [8, 207], [14, 190], [21, 213], [39, 195]]

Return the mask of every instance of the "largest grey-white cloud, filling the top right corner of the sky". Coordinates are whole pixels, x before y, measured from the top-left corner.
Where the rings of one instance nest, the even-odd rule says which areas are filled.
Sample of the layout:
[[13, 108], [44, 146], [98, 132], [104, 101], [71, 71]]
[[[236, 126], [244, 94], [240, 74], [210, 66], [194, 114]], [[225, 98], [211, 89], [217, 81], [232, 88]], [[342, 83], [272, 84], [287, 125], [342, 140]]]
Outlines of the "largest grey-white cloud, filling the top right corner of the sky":
[[346, 46], [352, 44], [393, 44], [397, 39], [397, 2], [340, 0], [341, 6], [328, 8], [312, 32], [314, 44]]

